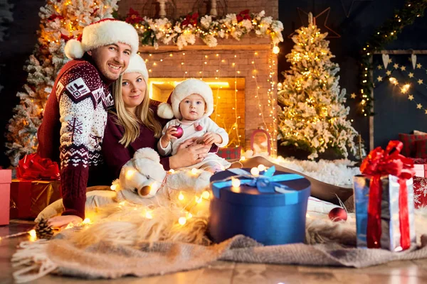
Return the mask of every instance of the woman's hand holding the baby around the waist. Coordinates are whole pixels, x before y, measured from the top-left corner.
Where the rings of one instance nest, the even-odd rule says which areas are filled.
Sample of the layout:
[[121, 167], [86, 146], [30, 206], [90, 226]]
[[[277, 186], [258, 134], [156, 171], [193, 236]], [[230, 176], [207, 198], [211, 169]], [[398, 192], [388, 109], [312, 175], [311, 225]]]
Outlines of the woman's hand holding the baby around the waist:
[[169, 158], [170, 168], [189, 167], [201, 162], [206, 157], [211, 145], [197, 144], [194, 141], [196, 138], [189, 138], [179, 145], [176, 154]]

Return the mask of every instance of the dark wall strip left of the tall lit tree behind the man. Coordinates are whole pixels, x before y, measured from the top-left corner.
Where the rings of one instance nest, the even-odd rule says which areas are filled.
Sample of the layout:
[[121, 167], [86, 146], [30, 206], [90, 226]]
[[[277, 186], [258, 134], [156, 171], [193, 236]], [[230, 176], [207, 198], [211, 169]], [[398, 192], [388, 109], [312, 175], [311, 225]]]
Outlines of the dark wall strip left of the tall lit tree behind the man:
[[14, 0], [12, 9], [14, 21], [9, 24], [9, 36], [0, 43], [0, 84], [4, 89], [0, 92], [0, 165], [9, 166], [9, 158], [4, 152], [6, 147], [6, 126], [11, 119], [12, 109], [19, 103], [16, 93], [22, 90], [27, 74], [23, 71], [36, 44], [36, 31], [40, 24], [38, 11], [46, 4], [46, 0]]

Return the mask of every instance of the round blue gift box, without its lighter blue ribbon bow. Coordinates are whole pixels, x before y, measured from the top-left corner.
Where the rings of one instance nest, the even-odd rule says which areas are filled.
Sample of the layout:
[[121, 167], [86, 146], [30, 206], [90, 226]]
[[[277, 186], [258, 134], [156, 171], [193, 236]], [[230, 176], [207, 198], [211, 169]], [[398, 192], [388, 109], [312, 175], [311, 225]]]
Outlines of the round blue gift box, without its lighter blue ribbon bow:
[[[280, 171], [274, 175], [286, 174], [292, 175]], [[219, 243], [238, 234], [249, 236], [264, 245], [304, 241], [309, 180], [299, 176], [295, 180], [279, 182], [292, 190], [290, 193], [259, 192], [249, 185], [241, 185], [237, 190], [215, 186], [216, 181], [234, 175], [225, 170], [211, 177], [214, 197], [209, 208], [208, 234], [212, 241]]]

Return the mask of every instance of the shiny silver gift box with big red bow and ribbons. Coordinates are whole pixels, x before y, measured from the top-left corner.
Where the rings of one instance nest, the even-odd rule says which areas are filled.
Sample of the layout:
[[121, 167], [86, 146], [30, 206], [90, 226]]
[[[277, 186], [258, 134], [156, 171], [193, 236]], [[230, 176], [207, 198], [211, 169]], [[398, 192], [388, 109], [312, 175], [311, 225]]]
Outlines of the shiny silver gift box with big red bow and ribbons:
[[354, 177], [357, 246], [402, 251], [416, 241], [413, 161], [400, 155], [403, 144], [375, 148]]

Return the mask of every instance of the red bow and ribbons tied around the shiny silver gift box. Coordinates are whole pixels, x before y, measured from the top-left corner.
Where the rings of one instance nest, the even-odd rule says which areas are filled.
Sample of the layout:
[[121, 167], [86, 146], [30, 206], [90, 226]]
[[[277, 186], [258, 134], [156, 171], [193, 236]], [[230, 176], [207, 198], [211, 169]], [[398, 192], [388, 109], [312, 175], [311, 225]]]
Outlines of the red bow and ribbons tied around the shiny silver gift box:
[[400, 154], [403, 147], [404, 144], [401, 141], [390, 141], [386, 151], [381, 147], [375, 148], [360, 165], [360, 171], [364, 175], [372, 176], [369, 184], [367, 224], [367, 244], [369, 248], [381, 247], [381, 175], [395, 175], [399, 178], [401, 247], [402, 249], [408, 249], [411, 246], [406, 180], [415, 175], [415, 170], [413, 170], [413, 160]]

